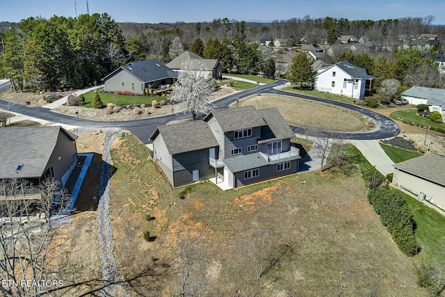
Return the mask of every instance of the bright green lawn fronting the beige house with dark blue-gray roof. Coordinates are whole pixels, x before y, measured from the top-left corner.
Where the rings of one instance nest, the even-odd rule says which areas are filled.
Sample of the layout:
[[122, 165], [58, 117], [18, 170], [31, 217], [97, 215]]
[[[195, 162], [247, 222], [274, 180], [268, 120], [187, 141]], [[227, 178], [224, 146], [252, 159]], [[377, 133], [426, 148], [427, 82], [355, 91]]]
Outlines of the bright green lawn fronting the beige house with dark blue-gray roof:
[[[167, 97], [148, 97], [148, 96], [127, 96], [127, 95], [117, 95], [111, 93], [99, 93], [100, 99], [106, 105], [107, 103], [115, 103], [117, 106], [127, 106], [135, 104], [152, 104], [153, 100], [157, 102], [161, 102], [162, 100], [167, 101]], [[90, 91], [88, 93], [83, 94], [85, 97], [86, 104], [83, 107], [92, 108], [92, 100], [95, 97], [95, 93]], [[133, 101], [134, 100], [134, 101]]]

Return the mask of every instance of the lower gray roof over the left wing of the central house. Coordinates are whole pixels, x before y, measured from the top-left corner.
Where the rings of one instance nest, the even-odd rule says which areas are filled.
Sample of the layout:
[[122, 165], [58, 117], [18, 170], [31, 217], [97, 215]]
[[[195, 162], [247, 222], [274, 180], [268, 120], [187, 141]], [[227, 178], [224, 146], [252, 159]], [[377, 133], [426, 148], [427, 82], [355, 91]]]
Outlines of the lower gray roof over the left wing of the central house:
[[218, 146], [209, 125], [201, 120], [159, 126], [150, 140], [154, 141], [159, 134], [172, 155]]

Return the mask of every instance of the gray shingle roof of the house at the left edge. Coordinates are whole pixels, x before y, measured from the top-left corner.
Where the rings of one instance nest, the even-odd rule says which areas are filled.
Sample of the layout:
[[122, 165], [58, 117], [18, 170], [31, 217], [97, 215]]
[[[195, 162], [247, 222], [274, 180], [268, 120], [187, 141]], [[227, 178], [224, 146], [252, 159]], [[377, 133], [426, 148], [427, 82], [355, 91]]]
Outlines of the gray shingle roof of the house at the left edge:
[[[77, 138], [59, 126], [0, 129], [0, 179], [41, 177], [59, 133]], [[16, 171], [19, 164], [23, 168]]]

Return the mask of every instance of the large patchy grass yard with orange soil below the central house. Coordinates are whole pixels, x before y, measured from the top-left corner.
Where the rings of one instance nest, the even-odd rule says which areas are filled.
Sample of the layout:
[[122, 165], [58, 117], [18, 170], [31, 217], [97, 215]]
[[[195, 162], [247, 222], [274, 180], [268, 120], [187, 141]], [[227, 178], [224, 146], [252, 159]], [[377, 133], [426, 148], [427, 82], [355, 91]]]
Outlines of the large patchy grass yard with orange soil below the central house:
[[[365, 163], [354, 149], [348, 160]], [[133, 136], [116, 140], [111, 154], [114, 252], [120, 273], [138, 277], [129, 288], [140, 296], [179, 294], [179, 243], [197, 259], [191, 281], [202, 280], [209, 295], [239, 289], [252, 296], [262, 288], [257, 296], [336, 296], [345, 271], [344, 296], [426, 296], [355, 166], [348, 175], [298, 173], [221, 191], [210, 182], [172, 188]], [[154, 241], [143, 239], [145, 231]]]

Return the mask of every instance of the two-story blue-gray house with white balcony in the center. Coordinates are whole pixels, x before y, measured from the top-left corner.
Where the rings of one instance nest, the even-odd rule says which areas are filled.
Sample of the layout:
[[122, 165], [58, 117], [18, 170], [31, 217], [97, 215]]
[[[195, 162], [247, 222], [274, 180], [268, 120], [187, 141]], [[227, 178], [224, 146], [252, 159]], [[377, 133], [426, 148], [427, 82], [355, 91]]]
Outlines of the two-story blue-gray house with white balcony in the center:
[[295, 134], [275, 109], [211, 111], [203, 120], [159, 126], [154, 161], [172, 186], [213, 179], [236, 188], [298, 171]]

